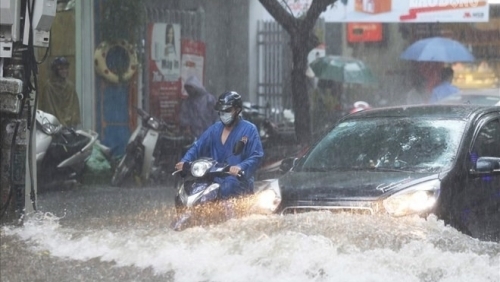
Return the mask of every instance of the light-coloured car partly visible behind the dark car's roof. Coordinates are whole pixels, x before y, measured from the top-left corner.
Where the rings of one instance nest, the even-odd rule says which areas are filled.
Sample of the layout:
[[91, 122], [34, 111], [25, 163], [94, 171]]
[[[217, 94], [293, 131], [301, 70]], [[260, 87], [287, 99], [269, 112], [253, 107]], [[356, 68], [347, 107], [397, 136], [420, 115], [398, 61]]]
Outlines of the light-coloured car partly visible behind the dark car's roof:
[[500, 106], [500, 88], [462, 90], [440, 100], [438, 103]]

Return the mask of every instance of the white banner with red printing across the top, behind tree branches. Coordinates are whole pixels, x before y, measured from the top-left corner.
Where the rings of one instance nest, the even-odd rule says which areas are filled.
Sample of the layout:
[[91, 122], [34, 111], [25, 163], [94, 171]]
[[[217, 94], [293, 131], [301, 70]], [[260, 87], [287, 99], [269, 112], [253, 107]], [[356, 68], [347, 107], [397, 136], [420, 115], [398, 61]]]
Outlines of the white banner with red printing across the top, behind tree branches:
[[[311, 0], [286, 0], [300, 15]], [[322, 15], [327, 22], [487, 22], [488, 0], [339, 0]]]

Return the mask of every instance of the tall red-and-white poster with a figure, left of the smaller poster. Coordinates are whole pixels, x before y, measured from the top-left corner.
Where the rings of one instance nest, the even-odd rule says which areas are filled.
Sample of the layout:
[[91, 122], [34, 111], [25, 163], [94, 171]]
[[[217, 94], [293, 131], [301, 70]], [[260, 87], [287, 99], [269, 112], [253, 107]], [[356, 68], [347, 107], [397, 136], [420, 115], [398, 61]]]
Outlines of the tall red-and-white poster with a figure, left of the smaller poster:
[[148, 28], [149, 109], [168, 123], [177, 123], [181, 93], [180, 25], [151, 23]]

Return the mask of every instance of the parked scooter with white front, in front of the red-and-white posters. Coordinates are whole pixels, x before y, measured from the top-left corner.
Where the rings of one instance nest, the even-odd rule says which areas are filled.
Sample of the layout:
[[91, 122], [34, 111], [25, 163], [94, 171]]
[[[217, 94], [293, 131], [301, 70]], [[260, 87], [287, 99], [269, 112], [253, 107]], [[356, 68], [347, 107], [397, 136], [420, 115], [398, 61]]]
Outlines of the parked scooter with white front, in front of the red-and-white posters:
[[136, 110], [141, 123], [130, 136], [125, 155], [115, 168], [112, 186], [122, 186], [130, 178], [140, 185], [165, 181], [173, 162], [193, 143], [193, 138], [175, 136], [171, 124], [140, 108]]

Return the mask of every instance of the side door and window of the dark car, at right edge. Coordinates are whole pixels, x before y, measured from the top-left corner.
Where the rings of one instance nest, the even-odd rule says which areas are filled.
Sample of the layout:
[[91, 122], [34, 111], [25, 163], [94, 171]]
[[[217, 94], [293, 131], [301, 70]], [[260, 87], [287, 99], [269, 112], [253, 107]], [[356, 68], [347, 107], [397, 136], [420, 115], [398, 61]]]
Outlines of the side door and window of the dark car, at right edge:
[[[465, 223], [474, 237], [500, 239], [500, 114], [490, 114], [477, 123], [469, 147], [465, 182]], [[476, 169], [478, 159], [498, 158], [489, 172]]]

